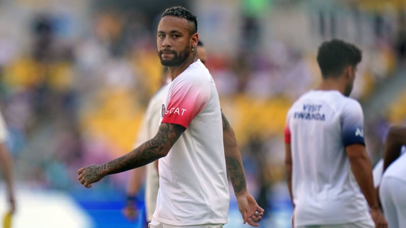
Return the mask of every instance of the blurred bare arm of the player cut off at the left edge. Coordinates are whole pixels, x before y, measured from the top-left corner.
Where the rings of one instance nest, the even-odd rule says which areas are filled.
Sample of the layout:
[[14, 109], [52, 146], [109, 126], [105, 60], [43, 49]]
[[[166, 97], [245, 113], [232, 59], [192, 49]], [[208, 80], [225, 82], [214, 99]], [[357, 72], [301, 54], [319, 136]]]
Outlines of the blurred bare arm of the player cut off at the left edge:
[[7, 184], [8, 197], [10, 202], [10, 210], [14, 212], [15, 210], [15, 199], [14, 199], [14, 184], [13, 184], [13, 160], [11, 159], [9, 150], [6, 143], [0, 143], [0, 168], [4, 175], [4, 179]]

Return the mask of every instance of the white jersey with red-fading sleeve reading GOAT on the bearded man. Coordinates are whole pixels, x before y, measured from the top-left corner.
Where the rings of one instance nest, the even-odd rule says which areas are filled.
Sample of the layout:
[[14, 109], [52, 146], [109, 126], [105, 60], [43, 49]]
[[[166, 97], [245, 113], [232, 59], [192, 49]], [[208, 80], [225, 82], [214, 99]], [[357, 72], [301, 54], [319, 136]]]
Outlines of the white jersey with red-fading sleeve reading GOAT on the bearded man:
[[220, 101], [200, 60], [167, 86], [162, 123], [186, 128], [159, 159], [159, 191], [153, 218], [166, 224], [227, 223], [229, 192]]

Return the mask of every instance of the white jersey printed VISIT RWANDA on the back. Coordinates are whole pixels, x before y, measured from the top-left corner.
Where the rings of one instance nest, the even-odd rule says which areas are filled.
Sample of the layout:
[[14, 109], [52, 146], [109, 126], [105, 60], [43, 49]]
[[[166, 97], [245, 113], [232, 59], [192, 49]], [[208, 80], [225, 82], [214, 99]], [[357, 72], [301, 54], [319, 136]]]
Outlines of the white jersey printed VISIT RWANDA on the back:
[[372, 221], [345, 151], [363, 136], [361, 105], [338, 91], [309, 91], [289, 109], [296, 226]]

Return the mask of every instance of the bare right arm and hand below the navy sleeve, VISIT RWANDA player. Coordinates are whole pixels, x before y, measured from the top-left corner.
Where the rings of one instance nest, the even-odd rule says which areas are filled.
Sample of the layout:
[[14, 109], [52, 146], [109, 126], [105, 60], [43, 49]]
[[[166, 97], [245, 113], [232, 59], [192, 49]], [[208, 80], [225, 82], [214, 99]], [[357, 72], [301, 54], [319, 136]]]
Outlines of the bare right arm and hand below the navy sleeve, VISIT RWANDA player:
[[376, 197], [377, 194], [372, 178], [372, 166], [365, 146], [362, 144], [350, 144], [346, 146], [346, 154], [350, 160], [355, 180], [369, 205], [371, 217], [374, 219], [376, 227], [387, 227], [388, 224], [379, 208]]

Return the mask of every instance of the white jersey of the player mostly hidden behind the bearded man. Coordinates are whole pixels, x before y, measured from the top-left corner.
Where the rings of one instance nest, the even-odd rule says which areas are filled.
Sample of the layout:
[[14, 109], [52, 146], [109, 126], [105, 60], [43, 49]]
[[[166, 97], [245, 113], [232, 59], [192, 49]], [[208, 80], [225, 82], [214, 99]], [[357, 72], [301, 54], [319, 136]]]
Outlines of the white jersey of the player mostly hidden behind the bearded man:
[[[159, 89], [149, 101], [144, 120], [140, 127], [138, 141], [134, 147], [141, 145], [156, 135], [159, 128], [162, 100], [165, 95], [164, 88], [165, 87]], [[145, 207], [147, 221], [152, 220], [152, 214], [155, 211], [158, 188], [158, 170], [156, 169], [154, 162], [152, 162], [146, 166]]]

